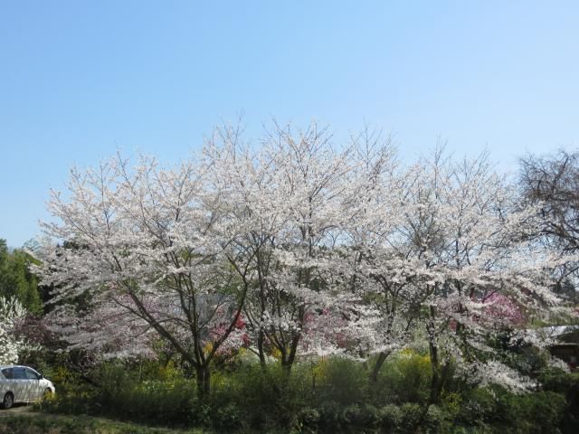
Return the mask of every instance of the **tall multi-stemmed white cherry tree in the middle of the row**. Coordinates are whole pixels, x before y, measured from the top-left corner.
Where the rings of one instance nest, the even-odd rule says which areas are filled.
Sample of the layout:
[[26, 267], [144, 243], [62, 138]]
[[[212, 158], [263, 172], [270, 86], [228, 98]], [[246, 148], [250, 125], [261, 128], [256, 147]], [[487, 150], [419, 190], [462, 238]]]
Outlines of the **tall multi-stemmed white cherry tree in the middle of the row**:
[[245, 228], [237, 248], [252, 257], [252, 273], [243, 277], [251, 278], [244, 306], [250, 348], [263, 366], [266, 353], [279, 354], [288, 372], [299, 353], [336, 351], [346, 322], [332, 260], [353, 195], [348, 149], [333, 149], [315, 124], [297, 132], [276, 124], [258, 150], [223, 129], [209, 151], [213, 178], [233, 186], [230, 221]]

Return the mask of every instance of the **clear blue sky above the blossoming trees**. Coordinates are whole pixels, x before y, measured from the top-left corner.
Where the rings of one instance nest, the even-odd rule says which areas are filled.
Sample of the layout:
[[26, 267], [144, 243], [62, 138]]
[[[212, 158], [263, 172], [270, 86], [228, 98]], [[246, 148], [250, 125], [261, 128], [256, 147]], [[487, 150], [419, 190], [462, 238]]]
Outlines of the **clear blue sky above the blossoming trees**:
[[248, 138], [368, 123], [515, 167], [579, 144], [578, 67], [577, 1], [0, 0], [0, 238], [38, 234], [71, 165], [176, 161], [241, 111]]

